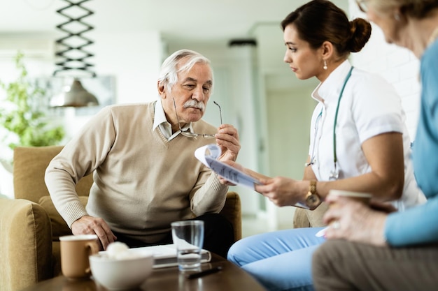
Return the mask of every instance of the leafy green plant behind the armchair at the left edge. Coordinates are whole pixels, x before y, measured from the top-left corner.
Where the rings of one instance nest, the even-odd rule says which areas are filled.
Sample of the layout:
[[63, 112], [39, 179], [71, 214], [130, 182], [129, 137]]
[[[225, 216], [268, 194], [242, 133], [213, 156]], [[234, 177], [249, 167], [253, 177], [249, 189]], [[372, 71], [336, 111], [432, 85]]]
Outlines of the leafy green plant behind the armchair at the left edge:
[[[50, 120], [41, 110], [45, 91], [29, 82], [23, 57], [24, 54], [18, 52], [14, 58], [18, 70], [17, 79], [8, 84], [0, 80], [0, 88], [6, 92], [0, 107], [1, 142], [10, 150], [17, 146], [58, 144], [65, 135], [64, 128], [51, 126]], [[0, 157], [0, 160], [3, 160], [4, 165], [5, 158]]]

